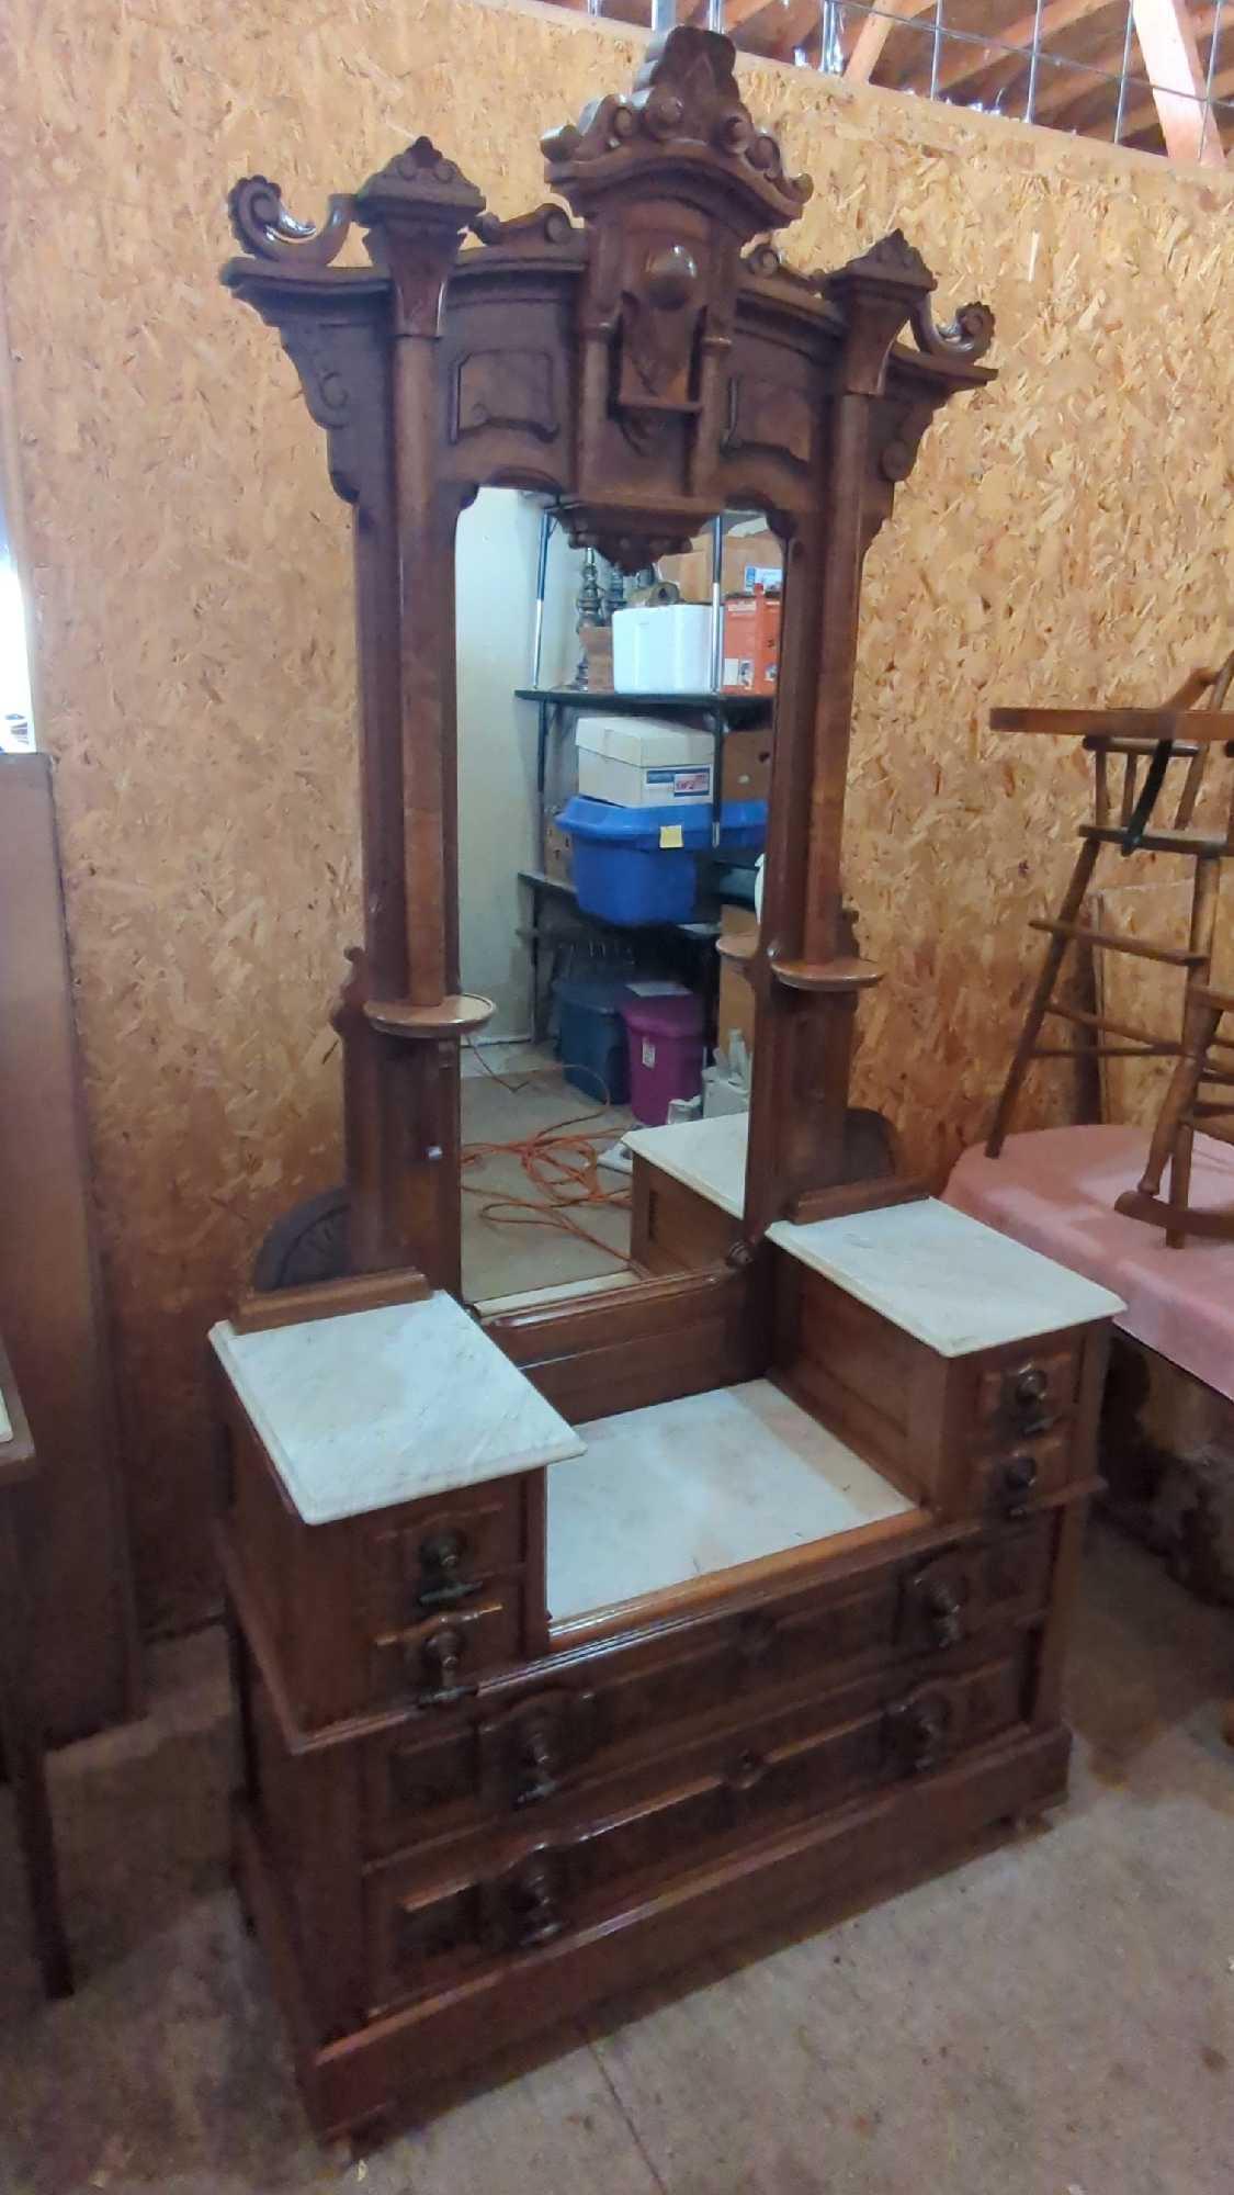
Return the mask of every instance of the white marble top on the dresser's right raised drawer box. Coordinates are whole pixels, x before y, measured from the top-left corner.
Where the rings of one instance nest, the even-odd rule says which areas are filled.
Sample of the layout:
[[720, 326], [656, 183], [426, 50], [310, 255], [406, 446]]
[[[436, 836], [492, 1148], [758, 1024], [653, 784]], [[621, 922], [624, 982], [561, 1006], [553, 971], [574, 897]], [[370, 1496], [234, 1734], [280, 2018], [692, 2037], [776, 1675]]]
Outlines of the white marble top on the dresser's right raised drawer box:
[[766, 1231], [790, 1258], [940, 1357], [1028, 1341], [1126, 1308], [1109, 1288], [935, 1196], [804, 1227], [775, 1220]]

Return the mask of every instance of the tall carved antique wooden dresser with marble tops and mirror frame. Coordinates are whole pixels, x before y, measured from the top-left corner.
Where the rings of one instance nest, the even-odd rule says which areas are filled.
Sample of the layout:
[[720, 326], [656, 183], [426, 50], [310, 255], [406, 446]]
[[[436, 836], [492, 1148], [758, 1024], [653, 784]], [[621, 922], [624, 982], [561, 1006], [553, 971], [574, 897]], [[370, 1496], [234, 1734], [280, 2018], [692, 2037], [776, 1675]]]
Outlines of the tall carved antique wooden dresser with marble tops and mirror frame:
[[[481, 215], [424, 138], [323, 230], [268, 182], [233, 193], [226, 281], [281, 329], [358, 507], [351, 1275], [213, 1335], [237, 1872], [325, 2131], [1063, 1796], [1120, 1308], [850, 1139], [876, 975], [841, 889], [861, 560], [933, 413], [988, 378], [990, 318], [935, 329], [900, 235], [810, 277], [751, 248], [808, 184], [711, 33], [652, 42], [545, 151], [580, 222]], [[373, 268], [334, 263], [351, 222]], [[643, 1271], [476, 1319], [450, 575], [492, 481], [621, 569], [764, 509], [786, 599], [740, 1174], [716, 1198], [696, 1146], [657, 1144]]]

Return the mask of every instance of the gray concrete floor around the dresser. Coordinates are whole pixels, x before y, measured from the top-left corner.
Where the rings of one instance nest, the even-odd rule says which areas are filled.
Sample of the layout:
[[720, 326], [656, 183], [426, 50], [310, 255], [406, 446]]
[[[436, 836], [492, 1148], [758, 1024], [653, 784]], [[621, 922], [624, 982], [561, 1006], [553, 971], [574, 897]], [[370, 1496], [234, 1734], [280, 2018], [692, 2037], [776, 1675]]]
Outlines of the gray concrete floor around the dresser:
[[81, 1969], [44, 2008], [0, 1800], [2, 2195], [1192, 2195], [1234, 2186], [1230, 1618], [1089, 1550], [1054, 1826], [643, 1993], [364, 2160], [305, 2134], [226, 1886], [213, 1633], [57, 1756]]

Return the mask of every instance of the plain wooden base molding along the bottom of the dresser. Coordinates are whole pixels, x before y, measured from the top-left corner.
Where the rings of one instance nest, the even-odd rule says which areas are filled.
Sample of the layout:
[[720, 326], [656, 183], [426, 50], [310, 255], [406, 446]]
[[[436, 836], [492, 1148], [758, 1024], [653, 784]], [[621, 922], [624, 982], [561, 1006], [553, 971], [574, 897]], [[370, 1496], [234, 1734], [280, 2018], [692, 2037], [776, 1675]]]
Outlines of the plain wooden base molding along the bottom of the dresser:
[[[314, 2039], [294, 1932], [261, 1833], [235, 1802], [235, 1877], [290, 2026], [296, 2079], [323, 2140], [391, 2131], [439, 2112], [485, 2061], [549, 2035], [608, 1997], [790, 1914], [808, 1929], [966, 1859], [992, 1828], [1041, 1815], [1067, 1793], [1072, 1734], [1028, 1732], [896, 1791], [764, 1837], [538, 1951], [404, 2006], [336, 2041]], [[749, 1956], [771, 1945], [751, 1940]]]

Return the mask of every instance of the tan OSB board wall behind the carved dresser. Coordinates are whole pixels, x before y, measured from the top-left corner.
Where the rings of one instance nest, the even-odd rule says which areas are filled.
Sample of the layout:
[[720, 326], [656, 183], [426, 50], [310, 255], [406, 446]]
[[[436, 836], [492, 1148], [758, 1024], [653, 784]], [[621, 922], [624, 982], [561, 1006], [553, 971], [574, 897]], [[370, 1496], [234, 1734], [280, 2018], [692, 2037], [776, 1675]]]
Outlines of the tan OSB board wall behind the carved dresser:
[[[430, 130], [501, 211], [639, 42], [459, 0], [9, 0], [4, 279], [149, 1622], [209, 1602], [202, 1337], [338, 1172], [325, 1025], [356, 935], [347, 514], [274, 336], [217, 288], [224, 191], [294, 209]], [[1225, 178], [749, 68], [817, 193], [795, 255], [891, 224], [999, 314], [870, 560], [850, 887], [887, 964], [861, 1091], [940, 1170], [981, 1128], [1058, 889], [1078, 759], [995, 698], [1155, 698], [1227, 643]], [[1025, 1122], [1050, 1117], [1034, 1093]]]

